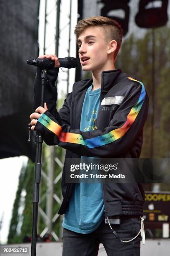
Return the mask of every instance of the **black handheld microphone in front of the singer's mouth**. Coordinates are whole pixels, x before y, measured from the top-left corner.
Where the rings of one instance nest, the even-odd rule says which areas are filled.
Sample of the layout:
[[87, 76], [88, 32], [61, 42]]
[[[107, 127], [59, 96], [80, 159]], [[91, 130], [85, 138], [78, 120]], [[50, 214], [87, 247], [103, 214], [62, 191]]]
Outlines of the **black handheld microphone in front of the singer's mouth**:
[[[58, 61], [60, 62], [60, 67], [65, 67], [67, 69], [72, 69], [78, 66], [78, 59], [73, 57], [66, 57], [66, 58], [58, 58]], [[51, 59], [28, 59], [27, 64], [35, 66], [35, 67], [41, 67], [42, 69], [50, 69], [54, 67], [55, 62]]]

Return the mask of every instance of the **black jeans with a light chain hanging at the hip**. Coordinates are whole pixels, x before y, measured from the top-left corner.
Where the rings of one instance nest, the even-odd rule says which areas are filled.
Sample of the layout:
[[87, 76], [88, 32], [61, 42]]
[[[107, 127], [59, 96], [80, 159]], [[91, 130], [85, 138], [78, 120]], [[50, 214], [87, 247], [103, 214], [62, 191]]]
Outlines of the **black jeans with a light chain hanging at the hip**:
[[[128, 241], [138, 234], [140, 217], [121, 216], [120, 225], [111, 224], [111, 227], [121, 240]], [[64, 228], [62, 256], [97, 256], [100, 243], [103, 244], [107, 256], [140, 256], [141, 240], [139, 235], [131, 242], [121, 242], [103, 219], [100, 226], [89, 234], [80, 234]]]

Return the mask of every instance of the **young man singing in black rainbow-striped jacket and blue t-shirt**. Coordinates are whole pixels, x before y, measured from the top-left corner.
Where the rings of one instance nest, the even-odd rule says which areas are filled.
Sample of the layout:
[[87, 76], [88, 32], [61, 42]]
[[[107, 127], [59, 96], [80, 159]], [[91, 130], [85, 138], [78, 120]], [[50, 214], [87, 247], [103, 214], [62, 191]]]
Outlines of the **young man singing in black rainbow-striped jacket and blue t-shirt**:
[[[55, 55], [40, 56], [54, 60], [55, 68], [48, 70], [44, 108], [38, 107], [37, 70], [31, 129], [42, 133], [48, 145], [66, 148], [66, 159], [139, 158], [148, 96], [142, 82], [115, 69], [122, 42], [120, 25], [110, 18], [90, 17], [79, 21], [75, 34], [82, 70], [91, 71], [92, 78], [75, 82], [57, 112], [55, 80], [60, 63]], [[137, 183], [67, 184], [65, 175], [64, 166], [64, 199], [58, 212], [65, 214], [63, 256], [96, 256], [100, 243], [109, 256], [139, 256], [143, 187]]]

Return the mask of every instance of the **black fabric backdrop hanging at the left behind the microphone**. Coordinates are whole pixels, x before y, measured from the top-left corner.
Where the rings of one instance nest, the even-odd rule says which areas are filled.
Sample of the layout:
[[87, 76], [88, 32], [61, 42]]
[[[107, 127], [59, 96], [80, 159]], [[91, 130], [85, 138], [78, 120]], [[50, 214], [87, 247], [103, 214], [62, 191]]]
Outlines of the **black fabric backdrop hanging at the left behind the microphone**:
[[28, 156], [36, 69], [26, 61], [38, 55], [39, 0], [0, 0], [0, 158]]

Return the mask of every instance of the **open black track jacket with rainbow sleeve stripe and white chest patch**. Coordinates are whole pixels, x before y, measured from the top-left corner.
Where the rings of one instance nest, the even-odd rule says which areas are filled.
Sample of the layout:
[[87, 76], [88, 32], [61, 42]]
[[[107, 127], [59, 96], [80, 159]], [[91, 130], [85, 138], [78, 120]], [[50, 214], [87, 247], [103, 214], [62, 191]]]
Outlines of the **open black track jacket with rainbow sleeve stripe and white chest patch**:
[[[49, 82], [45, 89], [48, 110], [40, 116], [35, 130], [42, 133], [47, 145], [66, 148], [65, 158], [99, 156], [100, 158], [139, 158], [143, 143], [143, 126], [148, 115], [148, 95], [144, 85], [127, 76], [121, 69], [101, 74], [100, 108], [97, 129], [80, 131], [82, 105], [92, 79], [73, 84], [59, 112], [56, 110], [55, 80], [58, 69], [48, 70]], [[37, 69], [34, 88], [34, 110], [40, 106], [40, 69]], [[64, 197], [58, 214], [67, 209], [75, 184], [65, 182], [62, 172]], [[141, 184], [102, 183], [105, 211], [115, 215], [143, 216], [145, 193]]]

